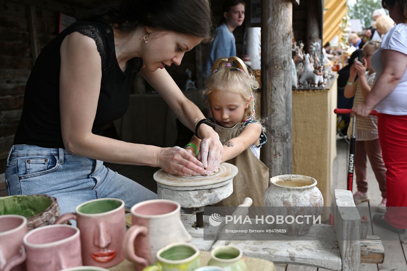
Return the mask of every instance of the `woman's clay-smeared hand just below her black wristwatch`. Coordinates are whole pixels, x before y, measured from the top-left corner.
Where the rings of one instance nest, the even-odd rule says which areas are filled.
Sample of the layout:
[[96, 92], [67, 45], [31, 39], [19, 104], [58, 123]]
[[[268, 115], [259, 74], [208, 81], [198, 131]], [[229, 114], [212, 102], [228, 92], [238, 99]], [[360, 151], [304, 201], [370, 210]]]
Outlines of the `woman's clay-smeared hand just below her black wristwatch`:
[[203, 135], [201, 136], [202, 141], [198, 152], [198, 160], [204, 164], [206, 174], [210, 175], [221, 164], [223, 146], [219, 141], [219, 135], [211, 127], [201, 125], [198, 133]]

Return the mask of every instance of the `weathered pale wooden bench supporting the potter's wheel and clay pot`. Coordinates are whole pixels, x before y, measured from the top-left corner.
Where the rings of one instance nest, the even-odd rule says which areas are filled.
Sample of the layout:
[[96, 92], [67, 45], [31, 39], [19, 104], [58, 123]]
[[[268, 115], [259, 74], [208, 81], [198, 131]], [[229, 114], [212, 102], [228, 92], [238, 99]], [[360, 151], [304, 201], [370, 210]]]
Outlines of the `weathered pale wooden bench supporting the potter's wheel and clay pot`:
[[[348, 190], [335, 190], [335, 227], [315, 224], [308, 234], [293, 240], [293, 236], [280, 234], [279, 240], [216, 240], [217, 234], [225, 225], [224, 220], [217, 227], [209, 226], [204, 240], [204, 229], [191, 225], [195, 216], [182, 214], [181, 218], [188, 232], [193, 236], [191, 243], [200, 250], [210, 251], [213, 247], [229, 244], [242, 249], [245, 256], [262, 258], [274, 263], [299, 264], [330, 270], [359, 271], [361, 262], [381, 263], [384, 260], [383, 244], [378, 236], [366, 236], [366, 223], [361, 221]], [[204, 216], [208, 223], [209, 216]], [[254, 224], [254, 223], [253, 223]], [[362, 225], [362, 227], [361, 227]], [[239, 229], [250, 229], [243, 224]], [[208, 234], [210, 232], [210, 234]], [[362, 238], [361, 238], [362, 236]]]

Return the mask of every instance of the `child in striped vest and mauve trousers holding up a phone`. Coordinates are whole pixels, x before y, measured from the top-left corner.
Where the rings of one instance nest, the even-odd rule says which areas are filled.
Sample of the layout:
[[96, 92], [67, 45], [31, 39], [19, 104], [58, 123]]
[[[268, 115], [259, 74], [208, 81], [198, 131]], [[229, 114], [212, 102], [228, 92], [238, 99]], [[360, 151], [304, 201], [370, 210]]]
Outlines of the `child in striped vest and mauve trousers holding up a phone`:
[[[345, 97], [355, 96], [353, 108], [362, 103], [370, 92], [374, 83], [376, 73], [370, 66], [370, 59], [373, 53], [380, 47], [379, 41], [370, 41], [363, 46], [362, 62], [354, 61], [350, 68], [350, 75], [345, 87]], [[366, 69], [369, 69], [366, 72]], [[354, 82], [356, 74], [359, 78]], [[354, 83], [353, 83], [354, 82]], [[352, 131], [352, 125], [348, 128], [348, 137]], [[377, 117], [368, 116], [367, 118], [358, 118], [356, 122], [356, 144], [355, 144], [355, 173], [357, 192], [353, 195], [355, 203], [369, 201], [368, 180], [367, 180], [367, 160], [370, 164], [376, 179], [379, 183], [381, 195], [383, 197], [379, 204], [378, 211], [385, 212], [386, 206], [386, 168], [383, 162], [379, 134], [377, 132]]]

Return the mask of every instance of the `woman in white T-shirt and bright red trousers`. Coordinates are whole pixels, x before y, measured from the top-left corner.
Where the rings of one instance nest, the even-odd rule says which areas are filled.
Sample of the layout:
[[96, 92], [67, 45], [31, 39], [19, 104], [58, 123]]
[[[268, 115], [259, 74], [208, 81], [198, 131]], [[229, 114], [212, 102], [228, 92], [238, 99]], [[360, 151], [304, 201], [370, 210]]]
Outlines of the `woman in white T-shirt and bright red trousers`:
[[386, 213], [375, 214], [374, 223], [393, 232], [407, 228], [407, 1], [382, 0], [396, 26], [383, 37], [371, 60], [376, 71], [372, 90], [352, 112], [378, 114], [379, 140], [386, 171]]

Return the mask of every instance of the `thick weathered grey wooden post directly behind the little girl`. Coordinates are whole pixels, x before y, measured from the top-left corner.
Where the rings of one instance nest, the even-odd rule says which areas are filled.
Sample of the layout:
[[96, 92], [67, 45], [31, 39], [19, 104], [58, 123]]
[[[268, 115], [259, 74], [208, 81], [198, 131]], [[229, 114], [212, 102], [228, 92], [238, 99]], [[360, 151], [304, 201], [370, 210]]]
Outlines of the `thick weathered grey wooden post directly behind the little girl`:
[[261, 160], [270, 177], [292, 173], [291, 0], [261, 2], [261, 115], [267, 144]]

